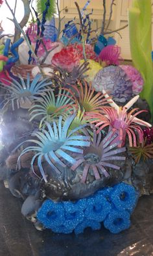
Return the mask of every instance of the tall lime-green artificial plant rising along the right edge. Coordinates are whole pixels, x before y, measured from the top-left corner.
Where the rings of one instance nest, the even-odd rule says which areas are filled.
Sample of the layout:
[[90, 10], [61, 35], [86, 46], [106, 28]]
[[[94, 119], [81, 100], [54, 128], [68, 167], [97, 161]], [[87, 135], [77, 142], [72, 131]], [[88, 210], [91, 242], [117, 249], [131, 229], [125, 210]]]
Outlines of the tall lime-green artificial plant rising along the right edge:
[[153, 122], [153, 70], [152, 70], [152, 4], [151, 0], [133, 0], [129, 9], [130, 50], [135, 68], [145, 81], [141, 97], [150, 107]]

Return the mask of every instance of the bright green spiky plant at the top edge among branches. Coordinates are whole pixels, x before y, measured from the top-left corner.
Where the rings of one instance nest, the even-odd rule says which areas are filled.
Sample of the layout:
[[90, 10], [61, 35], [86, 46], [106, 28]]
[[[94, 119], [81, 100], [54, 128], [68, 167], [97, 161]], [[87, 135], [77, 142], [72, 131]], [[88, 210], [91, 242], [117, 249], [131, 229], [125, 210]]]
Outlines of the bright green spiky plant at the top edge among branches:
[[[41, 16], [46, 6], [45, 3], [47, 0], [36, 0], [36, 10]], [[47, 10], [46, 19], [50, 20], [53, 17], [53, 14], [56, 13], [56, 0], [50, 0], [50, 6]]]

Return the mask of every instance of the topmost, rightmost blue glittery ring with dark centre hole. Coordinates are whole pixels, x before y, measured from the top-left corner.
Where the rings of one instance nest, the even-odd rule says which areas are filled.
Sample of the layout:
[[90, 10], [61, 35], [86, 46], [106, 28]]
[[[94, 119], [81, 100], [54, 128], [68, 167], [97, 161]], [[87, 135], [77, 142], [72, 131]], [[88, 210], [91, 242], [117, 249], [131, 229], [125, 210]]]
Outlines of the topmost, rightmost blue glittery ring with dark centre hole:
[[120, 183], [113, 187], [111, 193], [111, 200], [119, 211], [128, 210], [132, 212], [139, 198], [134, 186], [126, 183]]

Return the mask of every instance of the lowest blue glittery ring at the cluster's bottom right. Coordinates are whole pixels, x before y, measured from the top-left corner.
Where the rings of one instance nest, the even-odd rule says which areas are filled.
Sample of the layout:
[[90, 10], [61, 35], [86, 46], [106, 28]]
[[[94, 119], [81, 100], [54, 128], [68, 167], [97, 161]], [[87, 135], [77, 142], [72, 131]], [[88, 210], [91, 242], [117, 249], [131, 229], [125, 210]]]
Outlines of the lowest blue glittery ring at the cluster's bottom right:
[[104, 220], [104, 227], [117, 234], [130, 227], [130, 214], [127, 211], [113, 210]]

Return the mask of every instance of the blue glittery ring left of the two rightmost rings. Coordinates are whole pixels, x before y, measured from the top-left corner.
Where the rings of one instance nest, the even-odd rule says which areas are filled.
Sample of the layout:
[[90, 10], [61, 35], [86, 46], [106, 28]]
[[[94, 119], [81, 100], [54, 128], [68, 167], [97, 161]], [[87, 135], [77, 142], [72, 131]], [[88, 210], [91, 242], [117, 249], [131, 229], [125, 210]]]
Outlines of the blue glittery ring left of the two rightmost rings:
[[87, 199], [87, 208], [85, 216], [88, 220], [102, 222], [111, 211], [112, 206], [102, 194]]

